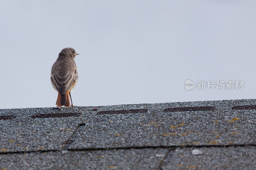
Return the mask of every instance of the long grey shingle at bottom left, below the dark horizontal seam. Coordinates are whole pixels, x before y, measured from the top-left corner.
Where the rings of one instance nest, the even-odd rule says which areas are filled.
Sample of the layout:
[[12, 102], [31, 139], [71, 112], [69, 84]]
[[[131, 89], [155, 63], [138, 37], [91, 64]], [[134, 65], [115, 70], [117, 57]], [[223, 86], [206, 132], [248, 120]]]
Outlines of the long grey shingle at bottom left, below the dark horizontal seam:
[[114, 149], [0, 155], [10, 169], [158, 169], [169, 149]]

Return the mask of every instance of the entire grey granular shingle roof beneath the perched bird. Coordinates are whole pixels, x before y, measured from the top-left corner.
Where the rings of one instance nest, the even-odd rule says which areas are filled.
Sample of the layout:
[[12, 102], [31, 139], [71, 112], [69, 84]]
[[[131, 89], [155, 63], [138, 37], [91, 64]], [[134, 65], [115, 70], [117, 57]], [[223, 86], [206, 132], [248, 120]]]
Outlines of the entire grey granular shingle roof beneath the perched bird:
[[2, 169], [255, 169], [256, 100], [0, 110]]

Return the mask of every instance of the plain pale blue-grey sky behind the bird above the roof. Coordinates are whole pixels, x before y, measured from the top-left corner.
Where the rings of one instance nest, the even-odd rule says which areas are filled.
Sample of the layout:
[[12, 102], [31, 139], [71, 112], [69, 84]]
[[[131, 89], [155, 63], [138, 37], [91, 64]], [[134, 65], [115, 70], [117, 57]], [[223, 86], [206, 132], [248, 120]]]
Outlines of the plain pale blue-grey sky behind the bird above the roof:
[[[50, 71], [75, 48], [76, 106], [256, 97], [256, 1], [1, 1], [0, 108], [55, 107]], [[184, 82], [244, 80], [243, 90]]]

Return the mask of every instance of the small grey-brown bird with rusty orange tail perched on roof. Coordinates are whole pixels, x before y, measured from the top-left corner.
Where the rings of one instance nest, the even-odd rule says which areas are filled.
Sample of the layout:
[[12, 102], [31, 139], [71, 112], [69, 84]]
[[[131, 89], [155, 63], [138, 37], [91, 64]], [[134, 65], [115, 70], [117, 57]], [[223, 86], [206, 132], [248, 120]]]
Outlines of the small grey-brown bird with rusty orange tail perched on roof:
[[[74, 48], [64, 48], [60, 51], [56, 62], [52, 65], [51, 82], [55, 90], [58, 91], [56, 101], [57, 108], [62, 106], [73, 108], [71, 90], [78, 81], [77, 67], [74, 61], [78, 55]], [[71, 106], [69, 96], [71, 100]]]

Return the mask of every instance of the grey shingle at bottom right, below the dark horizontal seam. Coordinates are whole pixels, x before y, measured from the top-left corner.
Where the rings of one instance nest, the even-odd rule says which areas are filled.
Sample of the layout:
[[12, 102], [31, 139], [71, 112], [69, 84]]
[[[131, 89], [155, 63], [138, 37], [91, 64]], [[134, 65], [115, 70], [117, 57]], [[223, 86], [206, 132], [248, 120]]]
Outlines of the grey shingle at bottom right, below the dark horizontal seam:
[[193, 155], [195, 148], [177, 148], [169, 152], [162, 169], [255, 169], [255, 146], [202, 147]]

